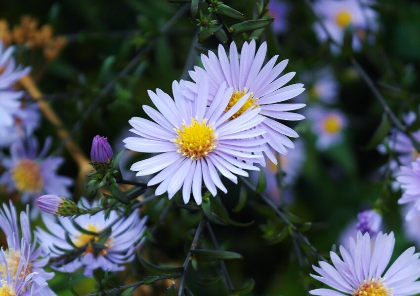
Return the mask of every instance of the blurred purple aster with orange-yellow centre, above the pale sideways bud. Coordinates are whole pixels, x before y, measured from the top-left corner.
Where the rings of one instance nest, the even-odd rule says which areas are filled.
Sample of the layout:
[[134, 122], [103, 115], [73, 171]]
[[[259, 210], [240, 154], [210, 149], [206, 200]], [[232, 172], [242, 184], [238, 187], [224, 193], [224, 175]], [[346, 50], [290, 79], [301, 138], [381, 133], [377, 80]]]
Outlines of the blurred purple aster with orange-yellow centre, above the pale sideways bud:
[[24, 203], [43, 194], [69, 197], [68, 187], [73, 181], [57, 175], [64, 158], [46, 156], [50, 146], [51, 139], [47, 138], [38, 154], [38, 141], [34, 137], [29, 138], [27, 143], [14, 143], [10, 147], [10, 157], [2, 159], [6, 171], [0, 177], [0, 184], [6, 185], [9, 192], [16, 190], [21, 193]]

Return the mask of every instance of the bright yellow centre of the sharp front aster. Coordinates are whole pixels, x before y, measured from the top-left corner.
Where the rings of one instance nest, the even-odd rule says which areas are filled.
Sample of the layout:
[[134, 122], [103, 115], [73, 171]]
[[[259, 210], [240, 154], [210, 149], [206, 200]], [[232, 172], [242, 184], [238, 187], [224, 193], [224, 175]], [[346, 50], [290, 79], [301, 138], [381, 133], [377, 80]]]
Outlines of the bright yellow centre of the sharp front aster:
[[196, 118], [191, 118], [189, 126], [182, 123], [181, 128], [175, 128], [178, 138], [172, 142], [178, 146], [178, 153], [191, 159], [200, 159], [216, 148], [217, 134], [214, 133], [215, 128], [206, 123], [203, 119], [201, 123]]

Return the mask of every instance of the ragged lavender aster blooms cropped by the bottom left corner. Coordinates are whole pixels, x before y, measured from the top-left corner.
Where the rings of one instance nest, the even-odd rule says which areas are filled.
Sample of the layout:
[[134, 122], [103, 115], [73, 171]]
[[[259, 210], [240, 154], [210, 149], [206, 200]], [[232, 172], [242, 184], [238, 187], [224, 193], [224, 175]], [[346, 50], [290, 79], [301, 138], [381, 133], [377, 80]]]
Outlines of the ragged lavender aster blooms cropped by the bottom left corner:
[[16, 209], [10, 202], [0, 209], [0, 228], [7, 239], [7, 249], [0, 250], [0, 295], [1, 296], [54, 296], [47, 280], [54, 273], [45, 272], [43, 267], [49, 258], [40, 257], [38, 241], [32, 241], [31, 224], [28, 219], [29, 207], [20, 213], [20, 226]]

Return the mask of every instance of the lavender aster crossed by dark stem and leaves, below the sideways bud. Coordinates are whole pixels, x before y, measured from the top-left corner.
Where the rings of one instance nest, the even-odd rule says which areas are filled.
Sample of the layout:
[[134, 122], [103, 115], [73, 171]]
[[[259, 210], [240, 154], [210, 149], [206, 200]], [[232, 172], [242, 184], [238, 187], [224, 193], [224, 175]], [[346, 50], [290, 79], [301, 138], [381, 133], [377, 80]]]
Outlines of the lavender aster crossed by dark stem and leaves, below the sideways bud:
[[[79, 206], [82, 207], [82, 205], [90, 209], [100, 206], [99, 202], [94, 202], [89, 207], [84, 198], [79, 203]], [[92, 277], [93, 270], [97, 268], [104, 271], [125, 269], [124, 264], [133, 260], [136, 249], [143, 242], [142, 235], [146, 219], [146, 217], [140, 219], [138, 211], [133, 211], [126, 218], [121, 218], [112, 211], [107, 219], [103, 211], [95, 215], [81, 215], [75, 219], [42, 213], [42, 220], [48, 232], [37, 227], [37, 233], [42, 241], [43, 254], [51, 258], [61, 257], [66, 252], [71, 252], [74, 246], [79, 248], [87, 246], [84, 252], [73, 261], [58, 260], [52, 268], [61, 272], [74, 272], [83, 267], [84, 275]], [[115, 222], [116, 220], [118, 221]], [[78, 226], [75, 227], [74, 223]], [[95, 236], [94, 233], [100, 233], [107, 227], [111, 227], [111, 233], [104, 243], [104, 249], [96, 253], [89, 242], [98, 243], [99, 236]]]

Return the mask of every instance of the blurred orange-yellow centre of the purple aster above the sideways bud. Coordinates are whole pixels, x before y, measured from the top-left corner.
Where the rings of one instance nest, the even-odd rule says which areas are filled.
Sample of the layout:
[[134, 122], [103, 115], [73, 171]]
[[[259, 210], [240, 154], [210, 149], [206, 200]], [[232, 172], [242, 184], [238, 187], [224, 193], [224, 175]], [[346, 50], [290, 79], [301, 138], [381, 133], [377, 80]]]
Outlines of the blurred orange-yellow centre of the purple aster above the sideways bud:
[[12, 171], [12, 178], [21, 192], [38, 192], [42, 189], [40, 166], [33, 160], [20, 160]]

